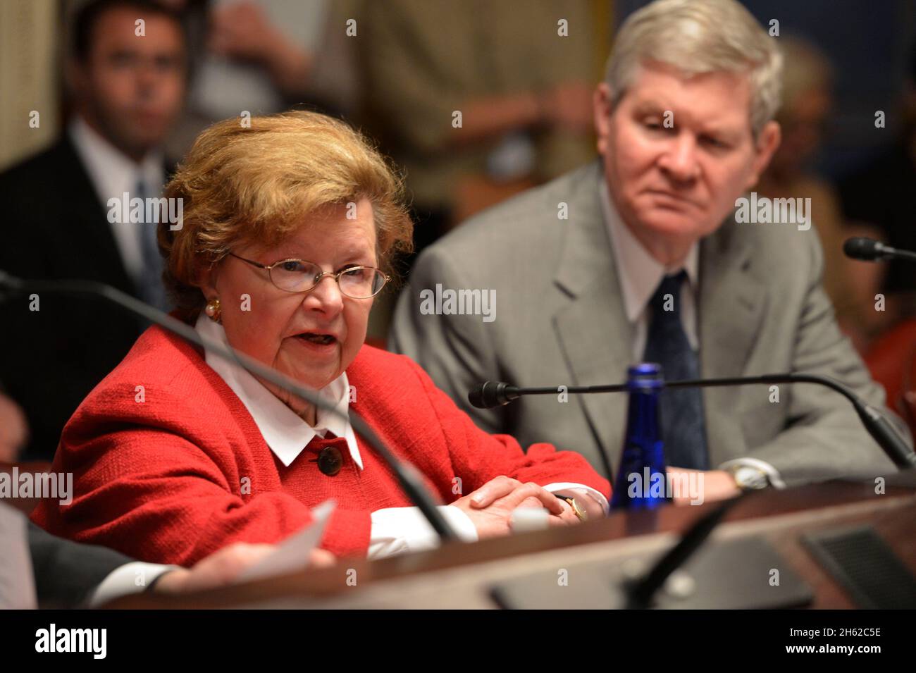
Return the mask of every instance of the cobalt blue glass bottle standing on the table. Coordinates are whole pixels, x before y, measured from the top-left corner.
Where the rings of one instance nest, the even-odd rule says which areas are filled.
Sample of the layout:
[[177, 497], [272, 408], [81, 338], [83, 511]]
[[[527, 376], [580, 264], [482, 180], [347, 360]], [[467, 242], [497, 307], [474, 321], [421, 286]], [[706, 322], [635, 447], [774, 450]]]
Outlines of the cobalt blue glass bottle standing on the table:
[[655, 509], [666, 502], [665, 449], [659, 418], [663, 387], [660, 364], [634, 364], [627, 370], [627, 434], [612, 509]]

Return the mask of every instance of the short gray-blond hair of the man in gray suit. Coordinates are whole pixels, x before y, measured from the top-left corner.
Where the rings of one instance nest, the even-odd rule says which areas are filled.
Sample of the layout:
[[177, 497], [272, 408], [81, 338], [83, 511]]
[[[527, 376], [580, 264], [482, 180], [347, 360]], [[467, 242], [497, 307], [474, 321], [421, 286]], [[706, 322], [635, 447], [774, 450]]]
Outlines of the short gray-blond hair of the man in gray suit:
[[776, 40], [736, 0], [657, 0], [620, 27], [605, 81], [616, 105], [644, 62], [670, 65], [686, 77], [747, 72], [750, 125], [757, 137], [780, 107], [782, 55]]

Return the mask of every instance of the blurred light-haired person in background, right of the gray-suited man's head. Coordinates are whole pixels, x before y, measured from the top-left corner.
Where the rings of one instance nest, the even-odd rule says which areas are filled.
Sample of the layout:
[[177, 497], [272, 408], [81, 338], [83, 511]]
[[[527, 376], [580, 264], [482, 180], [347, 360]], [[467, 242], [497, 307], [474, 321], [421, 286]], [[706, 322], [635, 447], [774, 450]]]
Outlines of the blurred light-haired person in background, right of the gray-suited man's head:
[[802, 38], [780, 38], [780, 49], [784, 70], [776, 121], [782, 128], [782, 142], [757, 191], [770, 199], [811, 199], [809, 216], [823, 247], [824, 291], [834, 305], [840, 328], [859, 353], [864, 353], [883, 315], [875, 310], [881, 267], [849, 259], [843, 253], [843, 242], [850, 236], [876, 232], [863, 225], [847, 225], [834, 185], [810, 169], [833, 107], [833, 72], [823, 52]]

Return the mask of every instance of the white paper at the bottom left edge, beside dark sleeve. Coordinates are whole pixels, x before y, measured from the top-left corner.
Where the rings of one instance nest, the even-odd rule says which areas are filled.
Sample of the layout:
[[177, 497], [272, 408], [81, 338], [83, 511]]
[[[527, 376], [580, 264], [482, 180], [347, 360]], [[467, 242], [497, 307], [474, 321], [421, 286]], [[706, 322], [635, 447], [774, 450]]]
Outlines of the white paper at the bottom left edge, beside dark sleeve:
[[38, 607], [26, 516], [0, 503], [0, 610]]

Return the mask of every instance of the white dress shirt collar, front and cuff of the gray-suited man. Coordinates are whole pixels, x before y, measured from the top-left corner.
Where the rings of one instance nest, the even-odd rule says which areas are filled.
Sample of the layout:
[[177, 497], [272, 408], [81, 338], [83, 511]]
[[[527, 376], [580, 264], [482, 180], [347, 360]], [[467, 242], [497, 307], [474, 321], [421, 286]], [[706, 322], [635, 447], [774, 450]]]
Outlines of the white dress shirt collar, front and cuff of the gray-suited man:
[[[699, 351], [697, 330], [697, 288], [699, 288], [700, 244], [692, 244], [682, 264], [665, 266], [653, 257], [641, 244], [638, 238], [627, 227], [620, 213], [611, 200], [610, 191], [604, 180], [599, 188], [601, 193], [601, 210], [611, 237], [611, 249], [623, 294], [624, 310], [627, 320], [633, 326], [633, 362], [642, 362], [646, 350], [646, 339], [649, 332], [651, 307], [649, 301], [663, 277], [676, 274], [682, 269], [687, 273], [687, 282], [681, 288], [681, 322], [687, 341], [693, 352]], [[739, 373], [735, 373], [738, 375]], [[767, 461], [757, 458], [736, 458], [719, 465], [719, 470], [733, 465], [747, 465], [764, 472], [769, 482], [777, 488], [784, 488], [785, 483], [780, 472]]]

